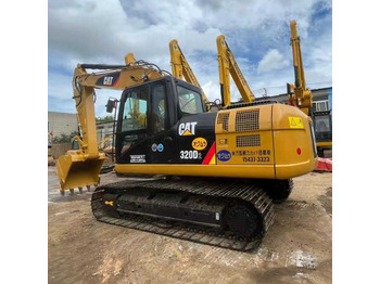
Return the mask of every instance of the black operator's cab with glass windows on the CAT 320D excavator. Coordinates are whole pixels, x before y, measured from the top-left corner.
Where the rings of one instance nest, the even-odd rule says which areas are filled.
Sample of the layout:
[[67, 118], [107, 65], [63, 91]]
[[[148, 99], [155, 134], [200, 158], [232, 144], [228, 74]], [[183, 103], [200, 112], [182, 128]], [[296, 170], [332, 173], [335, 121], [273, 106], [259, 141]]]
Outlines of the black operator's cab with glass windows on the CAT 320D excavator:
[[215, 114], [207, 113], [200, 88], [172, 76], [127, 88], [121, 99], [116, 128], [117, 164], [173, 164], [180, 140], [195, 126], [181, 120], [206, 116], [213, 132]]

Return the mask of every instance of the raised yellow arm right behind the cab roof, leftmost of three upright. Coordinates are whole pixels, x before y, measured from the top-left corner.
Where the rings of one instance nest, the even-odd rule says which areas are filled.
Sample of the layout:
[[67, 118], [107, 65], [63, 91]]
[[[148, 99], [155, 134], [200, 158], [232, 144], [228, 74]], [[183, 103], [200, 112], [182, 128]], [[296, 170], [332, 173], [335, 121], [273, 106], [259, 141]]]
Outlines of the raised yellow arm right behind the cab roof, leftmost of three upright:
[[[185, 78], [186, 81], [201, 88], [202, 90], [201, 85], [197, 80], [197, 77], [192, 72], [188, 61], [186, 60], [181, 49], [179, 48], [178, 41], [176, 39], [169, 42], [169, 49], [170, 49], [170, 64], [172, 64], [173, 76], [181, 80], [183, 80]], [[202, 90], [202, 98], [205, 104], [207, 105], [208, 100], [205, 93], [203, 92], [203, 90]]]

